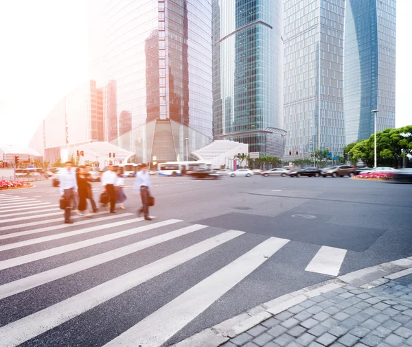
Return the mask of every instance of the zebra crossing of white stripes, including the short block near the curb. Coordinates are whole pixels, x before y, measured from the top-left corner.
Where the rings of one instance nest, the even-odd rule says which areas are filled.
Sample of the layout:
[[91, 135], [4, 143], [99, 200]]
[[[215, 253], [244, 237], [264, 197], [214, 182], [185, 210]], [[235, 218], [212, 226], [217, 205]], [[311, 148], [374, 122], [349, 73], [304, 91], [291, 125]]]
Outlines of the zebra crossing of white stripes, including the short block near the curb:
[[[2, 194], [0, 206], [0, 347], [169, 346], [216, 302], [242, 300], [233, 289], [297, 247], [181, 219], [147, 223], [128, 210], [63, 224], [56, 204]], [[337, 276], [347, 250], [313, 248], [294, 271]]]

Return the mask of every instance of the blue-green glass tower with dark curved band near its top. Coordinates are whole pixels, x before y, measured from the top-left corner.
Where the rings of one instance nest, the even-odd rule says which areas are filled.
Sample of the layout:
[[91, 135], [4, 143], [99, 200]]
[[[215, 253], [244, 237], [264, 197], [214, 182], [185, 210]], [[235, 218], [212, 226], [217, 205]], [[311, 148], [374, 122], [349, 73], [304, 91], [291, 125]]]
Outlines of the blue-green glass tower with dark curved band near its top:
[[264, 154], [266, 129], [283, 126], [283, 0], [212, 4], [215, 139]]

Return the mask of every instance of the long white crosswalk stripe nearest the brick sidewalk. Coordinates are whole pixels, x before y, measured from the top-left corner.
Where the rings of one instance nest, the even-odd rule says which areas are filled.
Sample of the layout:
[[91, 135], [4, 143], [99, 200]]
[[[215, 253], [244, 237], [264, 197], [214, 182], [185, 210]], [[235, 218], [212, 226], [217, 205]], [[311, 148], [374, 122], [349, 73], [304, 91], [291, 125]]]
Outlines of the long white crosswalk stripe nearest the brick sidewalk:
[[142, 346], [161, 346], [229, 289], [260, 267], [288, 241], [276, 237], [266, 239], [104, 346], [131, 347], [135, 346], [136, 342]]

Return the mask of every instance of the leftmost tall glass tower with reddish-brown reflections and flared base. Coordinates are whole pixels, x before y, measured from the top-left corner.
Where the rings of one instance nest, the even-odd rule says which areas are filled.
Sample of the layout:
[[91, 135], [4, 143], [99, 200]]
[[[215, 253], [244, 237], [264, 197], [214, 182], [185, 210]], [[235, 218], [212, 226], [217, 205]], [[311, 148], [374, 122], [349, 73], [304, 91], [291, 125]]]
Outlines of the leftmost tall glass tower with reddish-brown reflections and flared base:
[[210, 1], [107, 1], [111, 142], [145, 163], [183, 160], [186, 147], [209, 143], [211, 58]]

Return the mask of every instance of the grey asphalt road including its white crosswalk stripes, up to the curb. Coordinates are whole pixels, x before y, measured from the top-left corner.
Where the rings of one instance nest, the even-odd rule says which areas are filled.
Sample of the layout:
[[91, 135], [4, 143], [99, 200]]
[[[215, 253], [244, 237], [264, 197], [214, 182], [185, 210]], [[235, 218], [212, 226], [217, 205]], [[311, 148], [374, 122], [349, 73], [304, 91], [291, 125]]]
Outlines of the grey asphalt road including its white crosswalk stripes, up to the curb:
[[412, 256], [411, 184], [152, 184], [152, 222], [135, 215], [133, 179], [126, 210], [73, 225], [51, 181], [0, 191], [0, 346], [170, 346], [290, 291]]

